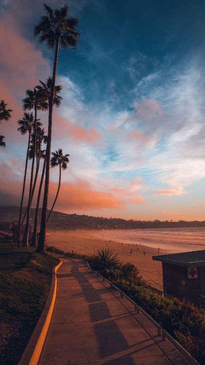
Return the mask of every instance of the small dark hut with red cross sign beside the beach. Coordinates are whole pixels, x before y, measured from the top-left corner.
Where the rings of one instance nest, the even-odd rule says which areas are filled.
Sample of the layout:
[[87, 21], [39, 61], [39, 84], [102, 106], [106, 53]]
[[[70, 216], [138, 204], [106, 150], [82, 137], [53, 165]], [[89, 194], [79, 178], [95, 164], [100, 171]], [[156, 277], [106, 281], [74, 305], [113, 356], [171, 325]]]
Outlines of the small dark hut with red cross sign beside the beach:
[[164, 292], [205, 305], [205, 250], [152, 256], [162, 262]]

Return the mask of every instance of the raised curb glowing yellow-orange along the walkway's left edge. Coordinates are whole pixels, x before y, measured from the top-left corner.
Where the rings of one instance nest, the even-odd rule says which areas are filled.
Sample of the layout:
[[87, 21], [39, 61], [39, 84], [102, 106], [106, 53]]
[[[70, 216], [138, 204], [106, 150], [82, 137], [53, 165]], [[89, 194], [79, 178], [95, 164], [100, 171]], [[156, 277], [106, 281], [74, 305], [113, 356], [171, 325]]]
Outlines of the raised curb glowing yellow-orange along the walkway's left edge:
[[23, 351], [18, 365], [37, 365], [38, 363], [54, 311], [57, 292], [56, 271], [60, 267], [60, 265], [62, 265], [62, 261], [60, 261], [59, 264], [53, 268], [51, 288], [46, 304], [37, 321], [37, 325], [30, 337], [30, 340], [25, 350]]

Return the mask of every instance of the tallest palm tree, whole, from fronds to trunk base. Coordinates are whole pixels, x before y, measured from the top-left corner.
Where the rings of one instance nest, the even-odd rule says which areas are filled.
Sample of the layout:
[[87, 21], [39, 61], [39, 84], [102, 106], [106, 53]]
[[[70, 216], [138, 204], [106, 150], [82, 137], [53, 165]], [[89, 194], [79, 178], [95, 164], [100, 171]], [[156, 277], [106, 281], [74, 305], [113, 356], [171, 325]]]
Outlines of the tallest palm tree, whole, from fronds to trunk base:
[[51, 85], [51, 95], [49, 98], [49, 118], [48, 118], [48, 143], [46, 149], [46, 173], [45, 173], [45, 187], [43, 196], [43, 206], [41, 214], [40, 235], [38, 240], [38, 252], [45, 252], [45, 237], [46, 237], [46, 221], [48, 209], [48, 193], [49, 193], [49, 178], [50, 178], [50, 158], [51, 158], [51, 139], [52, 139], [52, 116], [54, 105], [54, 91], [56, 84], [56, 70], [59, 46], [63, 49], [75, 49], [76, 42], [79, 38], [79, 33], [75, 30], [78, 21], [75, 18], [69, 18], [68, 5], [64, 5], [60, 9], [52, 10], [46, 4], [43, 4], [47, 11], [47, 16], [41, 17], [39, 23], [36, 25], [34, 35], [39, 36], [39, 42], [44, 40], [47, 42], [48, 48], [55, 47], [55, 58]]

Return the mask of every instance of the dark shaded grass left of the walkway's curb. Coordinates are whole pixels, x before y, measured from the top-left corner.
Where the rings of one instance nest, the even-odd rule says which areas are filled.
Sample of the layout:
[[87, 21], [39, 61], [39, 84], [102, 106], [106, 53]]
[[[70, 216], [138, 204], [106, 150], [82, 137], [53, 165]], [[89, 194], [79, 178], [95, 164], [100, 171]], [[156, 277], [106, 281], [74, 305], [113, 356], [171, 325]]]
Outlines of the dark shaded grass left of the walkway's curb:
[[16, 365], [35, 328], [51, 285], [53, 256], [0, 247], [0, 359]]

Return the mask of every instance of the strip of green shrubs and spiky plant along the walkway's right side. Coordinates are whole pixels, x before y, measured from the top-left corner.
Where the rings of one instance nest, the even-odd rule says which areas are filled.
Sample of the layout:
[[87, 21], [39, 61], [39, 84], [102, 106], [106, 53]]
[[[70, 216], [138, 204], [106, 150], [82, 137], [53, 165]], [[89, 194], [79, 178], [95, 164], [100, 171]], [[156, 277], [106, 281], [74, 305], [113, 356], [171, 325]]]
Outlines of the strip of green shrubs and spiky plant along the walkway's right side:
[[129, 262], [124, 265], [120, 264], [114, 251], [112, 252], [109, 248], [101, 249], [91, 257], [74, 252], [64, 253], [52, 246], [47, 249], [67, 257], [87, 260], [93, 270], [98, 271], [125, 292], [200, 364], [205, 364], [204, 309], [154, 292], [142, 279], [133, 264]]

